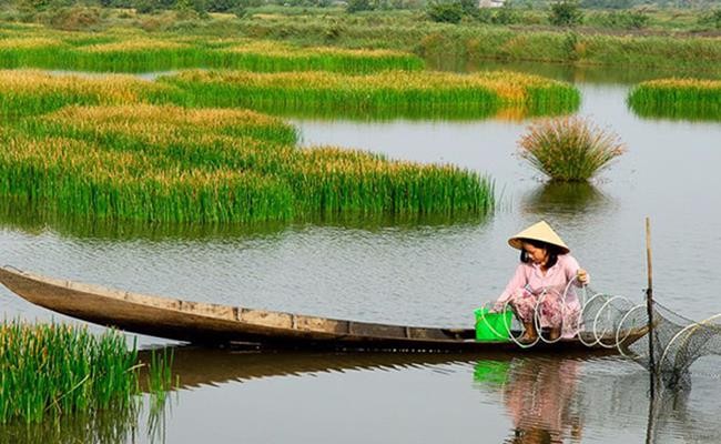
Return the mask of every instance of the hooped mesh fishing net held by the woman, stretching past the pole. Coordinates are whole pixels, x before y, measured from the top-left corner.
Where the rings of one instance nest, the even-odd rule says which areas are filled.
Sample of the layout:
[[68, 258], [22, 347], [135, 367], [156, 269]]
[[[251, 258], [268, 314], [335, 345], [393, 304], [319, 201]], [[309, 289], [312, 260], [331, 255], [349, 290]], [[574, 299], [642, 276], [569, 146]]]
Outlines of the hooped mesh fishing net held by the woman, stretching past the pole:
[[[540, 332], [536, 340], [521, 341], [520, 334], [511, 334], [510, 340], [524, 349], [560, 341], [562, 337], [554, 337], [546, 325], [549, 320], [562, 320], [563, 332], [578, 332], [579, 341], [589, 347], [618, 350], [653, 372], [667, 386], [686, 384], [691, 365], [699, 359], [721, 356], [721, 314], [697, 322], [654, 302], [649, 335], [644, 296], [632, 301], [622, 295], [596, 292], [588, 285], [579, 289], [573, 283], [544, 289], [532, 299], [531, 316]], [[512, 304], [507, 302], [505, 307], [518, 314], [522, 303], [515, 300]], [[514, 320], [509, 330], [522, 332], [524, 326]], [[712, 372], [721, 367], [718, 363], [708, 366]]]

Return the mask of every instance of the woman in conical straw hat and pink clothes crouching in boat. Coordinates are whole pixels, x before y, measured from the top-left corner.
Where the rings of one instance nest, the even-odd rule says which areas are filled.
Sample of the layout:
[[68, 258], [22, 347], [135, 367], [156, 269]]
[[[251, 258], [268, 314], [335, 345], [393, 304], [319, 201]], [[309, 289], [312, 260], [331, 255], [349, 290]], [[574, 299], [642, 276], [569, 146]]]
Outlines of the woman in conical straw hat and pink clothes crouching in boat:
[[[521, 341], [532, 342], [549, 330], [548, 339], [573, 337], [578, 333], [581, 306], [572, 286], [589, 282], [589, 275], [569, 253], [568, 246], [540, 221], [508, 240], [520, 250], [520, 264], [495, 304], [496, 311], [509, 305], [524, 324]], [[572, 285], [569, 285], [572, 283]], [[546, 336], [544, 336], [546, 337]]]

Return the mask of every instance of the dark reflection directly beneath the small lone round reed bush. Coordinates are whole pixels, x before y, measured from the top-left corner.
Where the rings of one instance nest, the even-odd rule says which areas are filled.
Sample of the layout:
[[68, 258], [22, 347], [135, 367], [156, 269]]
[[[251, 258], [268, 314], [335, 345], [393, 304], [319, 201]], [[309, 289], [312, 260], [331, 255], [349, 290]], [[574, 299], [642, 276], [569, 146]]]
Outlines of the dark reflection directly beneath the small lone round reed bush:
[[598, 212], [611, 204], [610, 198], [588, 182], [546, 182], [524, 199], [530, 214], [570, 214]]

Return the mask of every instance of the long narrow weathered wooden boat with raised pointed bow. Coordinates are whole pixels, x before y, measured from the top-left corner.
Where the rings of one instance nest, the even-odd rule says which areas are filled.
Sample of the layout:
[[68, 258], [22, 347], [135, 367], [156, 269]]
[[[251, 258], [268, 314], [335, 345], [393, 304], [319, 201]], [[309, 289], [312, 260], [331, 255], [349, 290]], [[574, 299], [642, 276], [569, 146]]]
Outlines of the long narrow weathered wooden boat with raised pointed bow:
[[[388, 325], [190, 302], [63, 281], [9, 266], [0, 268], [0, 282], [29, 302], [58, 313], [128, 332], [203, 345], [376, 351], [520, 349], [508, 341], [477, 342], [474, 329]], [[646, 333], [646, 329], [624, 332], [622, 345], [630, 345]], [[607, 340], [602, 343], [613, 343], [611, 335]], [[586, 342], [592, 342], [591, 337]], [[563, 339], [555, 344], [541, 342], [528, 350], [608, 352], [601, 344], [587, 347], [578, 339]]]

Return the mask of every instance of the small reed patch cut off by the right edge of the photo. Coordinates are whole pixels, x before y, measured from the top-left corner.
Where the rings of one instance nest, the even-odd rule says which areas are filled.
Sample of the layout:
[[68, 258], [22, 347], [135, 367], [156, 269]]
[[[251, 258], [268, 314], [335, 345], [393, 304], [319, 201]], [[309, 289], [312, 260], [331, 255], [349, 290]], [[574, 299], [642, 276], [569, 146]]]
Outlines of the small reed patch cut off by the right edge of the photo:
[[633, 88], [627, 102], [646, 118], [721, 121], [721, 80], [652, 80]]

